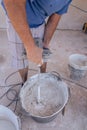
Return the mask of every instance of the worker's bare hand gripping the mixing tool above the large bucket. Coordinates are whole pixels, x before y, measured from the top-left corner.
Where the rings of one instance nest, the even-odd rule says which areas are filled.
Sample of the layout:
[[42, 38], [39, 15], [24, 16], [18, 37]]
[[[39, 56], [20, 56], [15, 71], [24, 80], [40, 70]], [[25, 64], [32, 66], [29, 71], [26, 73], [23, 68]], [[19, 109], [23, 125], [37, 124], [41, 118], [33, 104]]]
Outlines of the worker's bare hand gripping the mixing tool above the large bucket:
[[42, 65], [42, 52], [41, 48], [38, 48], [36, 45], [31, 47], [31, 49], [27, 49], [27, 57], [32, 62], [35, 62], [37, 65]]

